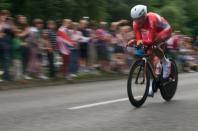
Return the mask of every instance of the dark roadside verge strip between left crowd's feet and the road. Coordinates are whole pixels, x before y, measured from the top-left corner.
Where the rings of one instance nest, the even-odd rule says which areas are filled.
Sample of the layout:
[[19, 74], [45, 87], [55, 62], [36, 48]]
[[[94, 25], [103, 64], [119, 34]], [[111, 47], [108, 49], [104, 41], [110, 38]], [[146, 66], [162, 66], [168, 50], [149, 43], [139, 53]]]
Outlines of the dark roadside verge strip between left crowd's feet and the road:
[[38, 87], [48, 87], [48, 86], [60, 86], [69, 84], [79, 84], [79, 83], [89, 83], [97, 81], [109, 81], [109, 80], [119, 80], [126, 79], [127, 75], [123, 74], [108, 74], [93, 76], [90, 78], [75, 78], [71, 80], [66, 80], [64, 78], [54, 78], [49, 80], [27, 80], [21, 82], [9, 81], [0, 83], [0, 91], [10, 90], [10, 89], [24, 89], [24, 88], [38, 88]]

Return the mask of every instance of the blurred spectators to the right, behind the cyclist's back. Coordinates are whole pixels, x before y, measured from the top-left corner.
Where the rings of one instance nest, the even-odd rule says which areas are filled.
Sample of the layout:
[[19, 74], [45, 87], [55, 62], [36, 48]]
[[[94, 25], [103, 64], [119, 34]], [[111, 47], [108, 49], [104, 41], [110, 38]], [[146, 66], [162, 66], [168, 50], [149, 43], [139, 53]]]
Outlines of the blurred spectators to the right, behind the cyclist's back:
[[180, 70], [194, 72], [198, 67], [198, 36], [194, 39], [182, 35], [180, 31], [172, 34], [167, 41], [167, 54], [177, 60]]

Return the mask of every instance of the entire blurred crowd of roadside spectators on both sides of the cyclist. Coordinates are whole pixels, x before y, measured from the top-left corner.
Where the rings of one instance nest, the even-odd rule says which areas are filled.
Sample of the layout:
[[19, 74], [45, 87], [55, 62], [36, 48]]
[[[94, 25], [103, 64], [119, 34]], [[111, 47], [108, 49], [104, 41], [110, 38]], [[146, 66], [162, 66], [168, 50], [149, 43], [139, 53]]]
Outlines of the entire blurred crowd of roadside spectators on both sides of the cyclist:
[[[63, 19], [28, 22], [24, 15], [12, 17], [0, 11], [0, 80], [49, 79], [77, 77], [80, 72], [127, 73], [142, 50], [126, 48], [134, 38], [130, 22], [79, 22]], [[173, 33], [167, 54], [180, 61], [184, 70], [198, 65], [198, 37]], [[185, 61], [185, 62], [184, 62]]]

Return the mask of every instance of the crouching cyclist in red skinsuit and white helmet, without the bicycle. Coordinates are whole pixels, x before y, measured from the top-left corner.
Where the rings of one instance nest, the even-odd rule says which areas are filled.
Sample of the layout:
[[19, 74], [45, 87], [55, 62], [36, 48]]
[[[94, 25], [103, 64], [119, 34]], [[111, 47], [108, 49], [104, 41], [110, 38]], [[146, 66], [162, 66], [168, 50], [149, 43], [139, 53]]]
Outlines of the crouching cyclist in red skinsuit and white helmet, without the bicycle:
[[[166, 81], [170, 75], [171, 62], [164, 55], [165, 42], [171, 36], [172, 29], [167, 20], [158, 15], [157, 13], [147, 13], [147, 7], [145, 5], [136, 5], [131, 9], [131, 17], [133, 19], [133, 29], [135, 33], [135, 40], [130, 40], [128, 46], [136, 43], [137, 46], [142, 44], [150, 46], [158, 44], [159, 48], [150, 50], [153, 55], [154, 67], [159, 65], [159, 59], [162, 62], [163, 67], [163, 79]], [[156, 62], [156, 57], [159, 62]], [[161, 65], [161, 64], [160, 64]], [[155, 68], [156, 75], [159, 75], [161, 71]], [[149, 95], [153, 96], [152, 86], [149, 89]]]

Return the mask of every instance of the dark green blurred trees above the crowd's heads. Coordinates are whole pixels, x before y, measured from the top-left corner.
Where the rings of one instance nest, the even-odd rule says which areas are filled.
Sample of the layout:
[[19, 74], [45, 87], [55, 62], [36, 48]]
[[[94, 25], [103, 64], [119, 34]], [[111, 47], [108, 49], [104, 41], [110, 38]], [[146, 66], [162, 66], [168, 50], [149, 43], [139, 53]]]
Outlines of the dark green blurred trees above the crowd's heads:
[[187, 34], [198, 32], [197, 0], [0, 0], [0, 9], [9, 9], [13, 15], [44, 20], [71, 18], [78, 21], [83, 16], [93, 20], [130, 20], [130, 9], [145, 4], [171, 23], [175, 30]]

